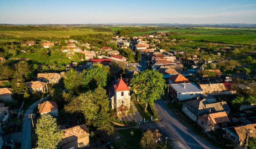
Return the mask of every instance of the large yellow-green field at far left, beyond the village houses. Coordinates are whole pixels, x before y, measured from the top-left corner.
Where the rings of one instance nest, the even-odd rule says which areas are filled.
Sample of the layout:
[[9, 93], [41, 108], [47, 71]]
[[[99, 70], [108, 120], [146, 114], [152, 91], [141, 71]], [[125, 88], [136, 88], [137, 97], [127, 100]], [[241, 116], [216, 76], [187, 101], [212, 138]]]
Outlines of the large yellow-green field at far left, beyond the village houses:
[[91, 28], [75, 28], [69, 31], [0, 31], [1, 36], [13, 36], [18, 38], [69, 38], [71, 35], [88, 35], [88, 34], [113, 34], [110, 32], [95, 32]]

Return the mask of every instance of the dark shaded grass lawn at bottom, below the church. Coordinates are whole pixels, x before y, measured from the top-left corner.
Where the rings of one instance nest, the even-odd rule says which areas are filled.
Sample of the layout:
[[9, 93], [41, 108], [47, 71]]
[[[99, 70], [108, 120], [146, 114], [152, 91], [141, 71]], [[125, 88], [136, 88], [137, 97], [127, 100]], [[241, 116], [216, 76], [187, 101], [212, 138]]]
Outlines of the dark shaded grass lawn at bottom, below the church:
[[[133, 136], [130, 132], [133, 132]], [[142, 132], [138, 128], [119, 129], [112, 135], [114, 149], [138, 149]], [[120, 138], [119, 138], [120, 137]]]

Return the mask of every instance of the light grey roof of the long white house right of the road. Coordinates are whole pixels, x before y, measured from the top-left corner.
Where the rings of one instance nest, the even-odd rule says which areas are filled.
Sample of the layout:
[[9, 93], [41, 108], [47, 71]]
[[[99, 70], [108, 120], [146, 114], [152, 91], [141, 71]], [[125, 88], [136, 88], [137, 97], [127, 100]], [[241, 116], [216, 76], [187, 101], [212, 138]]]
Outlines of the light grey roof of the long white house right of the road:
[[184, 83], [170, 84], [170, 86], [179, 93], [203, 92], [203, 90], [194, 83], [185, 83], [185, 87]]

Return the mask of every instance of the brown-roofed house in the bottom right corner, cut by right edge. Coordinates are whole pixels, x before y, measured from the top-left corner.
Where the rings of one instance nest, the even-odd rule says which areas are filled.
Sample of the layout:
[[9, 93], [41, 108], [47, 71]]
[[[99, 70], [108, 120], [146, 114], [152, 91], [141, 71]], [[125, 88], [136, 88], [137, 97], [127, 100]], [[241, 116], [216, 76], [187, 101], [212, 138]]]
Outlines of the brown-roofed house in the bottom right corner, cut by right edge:
[[245, 124], [233, 127], [223, 128], [225, 130], [225, 137], [237, 145], [244, 145], [248, 133], [250, 137], [256, 138], [256, 123]]

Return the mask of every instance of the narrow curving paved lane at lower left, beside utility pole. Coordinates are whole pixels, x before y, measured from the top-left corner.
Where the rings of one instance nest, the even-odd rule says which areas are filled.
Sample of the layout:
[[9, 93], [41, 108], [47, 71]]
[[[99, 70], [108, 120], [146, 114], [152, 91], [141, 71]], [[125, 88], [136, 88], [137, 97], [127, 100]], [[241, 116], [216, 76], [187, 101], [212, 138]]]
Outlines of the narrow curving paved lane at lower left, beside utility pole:
[[[43, 99], [38, 101], [44, 101], [50, 98], [50, 96], [46, 96]], [[32, 114], [35, 107], [37, 107], [37, 103], [33, 103], [25, 112], [22, 123], [22, 141], [21, 141], [21, 149], [31, 149], [31, 118], [28, 118], [29, 114]]]

